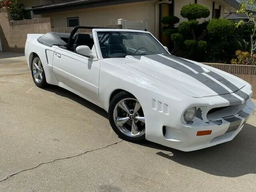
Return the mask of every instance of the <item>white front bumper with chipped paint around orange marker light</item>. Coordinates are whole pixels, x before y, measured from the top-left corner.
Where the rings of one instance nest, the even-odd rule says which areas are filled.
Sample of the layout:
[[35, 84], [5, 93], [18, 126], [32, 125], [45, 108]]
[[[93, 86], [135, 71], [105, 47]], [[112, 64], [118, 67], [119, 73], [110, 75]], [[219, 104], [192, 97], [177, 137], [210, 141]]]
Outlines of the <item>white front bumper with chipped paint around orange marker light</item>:
[[[236, 114], [224, 116], [219, 121], [195, 123], [191, 125], [164, 125], [162, 137], [155, 134], [151, 141], [182, 151], [194, 151], [231, 141], [243, 128], [249, 116], [254, 113], [255, 104], [249, 99]], [[162, 125], [161, 125], [162, 126]], [[162, 128], [161, 128], [162, 129]], [[211, 134], [197, 136], [198, 131], [211, 130]], [[147, 138], [147, 133], [146, 133]], [[147, 138], [148, 139], [148, 138]]]

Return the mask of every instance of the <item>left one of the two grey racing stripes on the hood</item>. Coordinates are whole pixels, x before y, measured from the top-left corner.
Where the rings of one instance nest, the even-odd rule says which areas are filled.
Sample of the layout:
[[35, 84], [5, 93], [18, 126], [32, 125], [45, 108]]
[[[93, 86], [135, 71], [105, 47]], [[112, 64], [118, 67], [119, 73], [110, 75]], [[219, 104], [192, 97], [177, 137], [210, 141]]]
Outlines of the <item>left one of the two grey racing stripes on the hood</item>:
[[[183, 72], [183, 73], [195, 78], [196, 80], [198, 80], [199, 82], [201, 82], [202, 84], [206, 85], [208, 88], [210, 88], [211, 90], [216, 92], [219, 96], [228, 100], [230, 102], [230, 105], [242, 104], [242, 101], [239, 98], [233, 96], [232, 94], [227, 94], [228, 90], [226, 90], [220, 84], [214, 82], [213, 80], [211, 80], [204, 74], [201, 74], [201, 73], [196, 74], [196, 73], [192, 72], [191, 70], [189, 70], [188, 68], [186, 68], [176, 62], [173, 62], [172, 60], [164, 58], [160, 55], [147, 55], [145, 57], [152, 59], [156, 62], [160, 62], [166, 66], [172, 67], [180, 72]], [[194, 65], [196, 65], [196, 64], [194, 64]]]

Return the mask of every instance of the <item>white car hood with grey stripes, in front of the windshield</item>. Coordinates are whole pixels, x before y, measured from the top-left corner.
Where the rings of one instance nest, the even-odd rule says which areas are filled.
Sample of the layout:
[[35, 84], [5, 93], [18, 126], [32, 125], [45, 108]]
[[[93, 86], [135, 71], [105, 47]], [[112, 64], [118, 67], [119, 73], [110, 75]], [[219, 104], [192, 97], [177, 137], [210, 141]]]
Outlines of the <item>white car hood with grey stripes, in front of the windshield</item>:
[[169, 54], [126, 56], [125, 60], [148, 78], [161, 80], [196, 98], [230, 94], [246, 85], [235, 76]]

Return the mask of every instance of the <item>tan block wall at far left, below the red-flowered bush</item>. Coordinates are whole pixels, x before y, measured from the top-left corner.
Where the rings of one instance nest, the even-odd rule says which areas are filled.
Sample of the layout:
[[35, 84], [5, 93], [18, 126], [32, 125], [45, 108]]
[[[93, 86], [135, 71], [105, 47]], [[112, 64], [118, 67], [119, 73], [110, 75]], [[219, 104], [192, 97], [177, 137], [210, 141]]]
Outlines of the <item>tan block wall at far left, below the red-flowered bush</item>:
[[0, 9], [0, 38], [2, 50], [24, 53], [27, 34], [45, 34], [53, 28], [51, 18], [10, 21], [8, 9]]

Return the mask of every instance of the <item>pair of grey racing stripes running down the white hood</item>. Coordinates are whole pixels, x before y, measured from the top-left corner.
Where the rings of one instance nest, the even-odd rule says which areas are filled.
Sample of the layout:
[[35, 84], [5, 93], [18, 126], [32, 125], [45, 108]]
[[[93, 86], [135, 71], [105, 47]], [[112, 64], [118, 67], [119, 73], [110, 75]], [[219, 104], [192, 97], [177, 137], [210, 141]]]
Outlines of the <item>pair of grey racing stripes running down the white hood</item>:
[[[224, 84], [226, 87], [228, 87], [230, 90], [232, 90], [232, 92], [234, 92], [234, 94], [237, 94], [238, 96], [243, 98], [245, 101], [250, 98], [248, 94], [242, 92], [241, 90], [239, 90], [239, 88], [237, 86], [235, 86], [234, 84], [229, 82], [226, 78], [223, 78], [222, 76], [220, 76], [219, 74], [217, 74], [215, 72], [210, 71], [210, 72], [206, 73], [201, 68], [201, 66], [194, 64], [192, 62], [189, 62], [187, 60], [184, 60], [182, 58], [179, 58], [177, 56], [167, 55], [167, 54], [164, 56], [147, 55], [145, 57], [149, 58], [151, 60], [154, 60], [156, 62], [160, 62], [166, 66], [174, 68], [180, 72], [183, 72], [183, 73], [195, 78], [196, 80], [198, 80], [199, 82], [201, 82], [202, 84], [206, 85], [208, 88], [210, 88], [211, 90], [216, 92], [219, 96], [228, 100], [228, 102], [230, 102], [230, 106], [242, 104], [242, 100], [240, 100], [239, 98], [237, 98], [236, 96], [234, 96], [231, 93], [227, 94], [228, 90], [226, 88], [224, 88], [222, 85], [218, 84], [217, 82], [213, 81], [206, 75], [204, 75], [204, 73], [208, 74], [215, 80]], [[169, 59], [166, 57], [168, 57]]]

